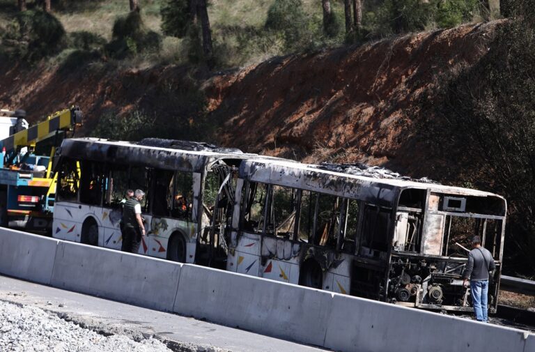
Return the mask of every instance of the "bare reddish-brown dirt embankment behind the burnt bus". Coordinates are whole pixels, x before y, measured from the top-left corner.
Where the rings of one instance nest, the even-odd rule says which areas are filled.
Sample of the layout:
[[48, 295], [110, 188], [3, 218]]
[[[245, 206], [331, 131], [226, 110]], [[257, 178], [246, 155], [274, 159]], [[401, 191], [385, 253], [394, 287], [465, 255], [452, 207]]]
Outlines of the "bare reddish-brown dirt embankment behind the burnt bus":
[[499, 23], [279, 57], [210, 75], [176, 66], [125, 70], [93, 63], [58, 70], [4, 62], [0, 106], [23, 107], [41, 118], [77, 104], [86, 114], [81, 133], [88, 134], [105, 112], [139, 109], [192, 123], [194, 111], [178, 97], [200, 89], [217, 125], [206, 140], [309, 162], [383, 164], [441, 179], [440, 162], [426, 151], [430, 136], [419, 135], [418, 123], [440, 100], [433, 90], [437, 79], [478, 61]]

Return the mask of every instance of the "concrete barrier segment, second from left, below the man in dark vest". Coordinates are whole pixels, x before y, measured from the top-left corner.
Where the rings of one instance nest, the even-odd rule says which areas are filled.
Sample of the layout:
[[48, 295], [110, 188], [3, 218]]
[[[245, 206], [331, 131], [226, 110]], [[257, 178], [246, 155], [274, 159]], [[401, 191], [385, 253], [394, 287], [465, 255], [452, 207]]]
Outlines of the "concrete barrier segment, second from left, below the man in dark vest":
[[59, 244], [52, 286], [171, 312], [183, 264], [100, 247]]

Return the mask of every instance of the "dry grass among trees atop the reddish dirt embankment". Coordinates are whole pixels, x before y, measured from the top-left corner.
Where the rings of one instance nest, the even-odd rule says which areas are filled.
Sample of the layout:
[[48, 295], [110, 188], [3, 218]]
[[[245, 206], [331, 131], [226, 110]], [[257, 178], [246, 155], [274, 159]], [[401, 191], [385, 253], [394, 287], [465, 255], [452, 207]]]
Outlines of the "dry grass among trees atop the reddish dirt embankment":
[[[470, 21], [472, 13], [467, 4], [475, 0], [430, 0], [421, 3], [416, 0], [397, 1], [364, 1], [362, 31], [357, 35], [345, 36], [343, 1], [331, 1], [334, 13], [334, 26], [329, 36], [323, 33], [323, 12], [321, 2], [318, 0], [301, 0], [303, 15], [300, 23], [291, 26], [277, 27], [267, 30], [265, 26], [270, 8], [274, 3], [283, 5], [290, 0], [212, 0], [208, 6], [208, 15], [212, 26], [212, 38], [214, 40], [215, 61], [218, 68], [246, 66], [269, 59], [272, 56], [284, 56], [293, 52], [304, 52], [322, 47], [336, 47], [346, 43], [362, 43], [366, 40], [375, 40], [392, 36], [392, 19], [406, 19], [408, 27], [414, 26], [414, 16], [421, 13], [422, 23], [425, 29], [433, 29], [436, 26], [454, 26], [460, 21]], [[291, 0], [294, 1], [294, 0]], [[437, 2], [440, 1], [440, 2]], [[157, 33], [162, 36], [161, 9], [166, 0], [139, 0], [141, 18], [147, 32]], [[394, 16], [392, 8], [394, 3], [401, 3], [401, 17]], [[408, 10], [407, 4], [414, 5]], [[440, 6], [438, 6], [438, 5]], [[464, 4], [464, 5], [463, 5]], [[28, 0], [29, 10], [36, 8], [36, 0]], [[460, 6], [463, 5], [463, 6]], [[426, 7], [427, 6], [427, 7]], [[431, 6], [431, 7], [430, 7]], [[288, 6], [286, 6], [288, 7]], [[433, 11], [425, 11], [425, 8], [433, 8]], [[292, 6], [290, 6], [290, 9]], [[405, 10], [403, 10], [405, 9]], [[424, 9], [424, 10], [422, 10]], [[52, 11], [66, 33], [93, 33], [95, 38], [103, 38], [107, 42], [116, 42], [112, 32], [114, 23], [129, 13], [129, 1], [127, 0], [54, 0]], [[399, 9], [397, 10], [399, 12]], [[403, 12], [404, 11], [404, 12]], [[422, 12], [423, 11], [423, 12]], [[6, 30], [8, 24], [17, 13], [15, 0], [0, 0], [0, 33]], [[419, 16], [419, 15], [418, 15]], [[427, 22], [426, 22], [427, 21]], [[426, 22], [426, 23], [424, 23]], [[291, 27], [291, 28], [290, 28]], [[336, 28], [335, 28], [336, 27]], [[409, 30], [409, 29], [408, 29]], [[82, 40], [82, 45], [72, 45], [77, 49], [94, 50], [93, 43], [102, 43], [102, 40], [90, 40], [77, 38], [79, 34], [69, 35], [75, 42]], [[185, 40], [162, 40], [162, 56], [150, 54], [143, 48], [139, 48], [140, 40], [129, 36], [130, 40], [121, 43], [122, 49], [118, 51], [129, 52], [128, 55], [118, 55], [121, 59], [131, 55], [141, 55], [144, 59], [154, 60], [154, 64], [171, 62], [183, 63], [189, 57], [197, 56], [191, 52]], [[149, 41], [155, 40], [156, 36]], [[92, 43], [87, 43], [87, 40]], [[135, 43], [134, 43], [135, 42]], [[141, 40], [144, 42], [144, 40]], [[189, 51], [189, 53], [188, 53]]]

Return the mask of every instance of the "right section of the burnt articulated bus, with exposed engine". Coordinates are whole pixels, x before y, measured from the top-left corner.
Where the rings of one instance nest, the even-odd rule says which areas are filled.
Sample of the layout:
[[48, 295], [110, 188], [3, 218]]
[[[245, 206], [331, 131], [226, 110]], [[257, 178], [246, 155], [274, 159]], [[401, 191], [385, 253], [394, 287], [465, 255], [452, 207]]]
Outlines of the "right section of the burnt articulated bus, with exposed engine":
[[462, 273], [474, 235], [496, 261], [506, 201], [359, 165], [244, 160], [227, 270], [425, 309], [470, 311]]

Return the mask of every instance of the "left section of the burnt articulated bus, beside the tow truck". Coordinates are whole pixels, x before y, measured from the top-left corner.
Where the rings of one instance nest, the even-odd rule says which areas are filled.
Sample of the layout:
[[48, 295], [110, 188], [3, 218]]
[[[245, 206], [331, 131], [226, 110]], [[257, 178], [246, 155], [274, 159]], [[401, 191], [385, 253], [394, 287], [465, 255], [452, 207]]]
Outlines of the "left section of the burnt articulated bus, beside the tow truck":
[[144, 139], [65, 139], [56, 152], [54, 238], [121, 249], [121, 201], [146, 192], [139, 254], [224, 268], [238, 149]]

